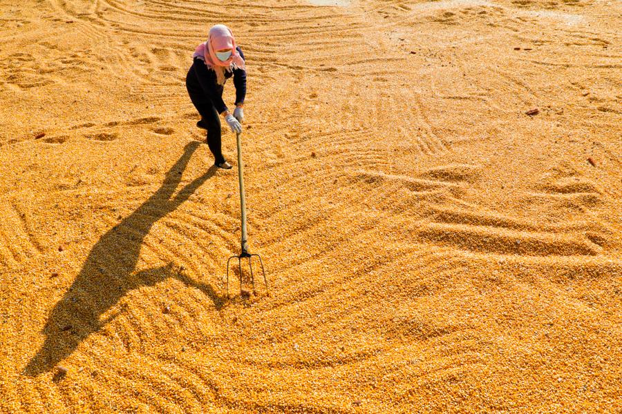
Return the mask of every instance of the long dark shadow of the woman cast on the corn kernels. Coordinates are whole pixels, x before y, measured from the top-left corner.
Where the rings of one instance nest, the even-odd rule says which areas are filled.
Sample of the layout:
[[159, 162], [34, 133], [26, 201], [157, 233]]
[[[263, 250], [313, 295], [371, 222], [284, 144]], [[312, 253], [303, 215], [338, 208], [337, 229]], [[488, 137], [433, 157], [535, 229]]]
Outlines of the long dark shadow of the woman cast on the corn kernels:
[[199, 145], [198, 141], [187, 144], [158, 191], [93, 246], [75, 281], [51, 311], [43, 329], [46, 340], [23, 373], [36, 376], [50, 371], [73, 353], [88, 335], [99, 331], [114, 318], [100, 320], [101, 315], [130, 290], [140, 286], [153, 286], [169, 277], [176, 277], [188, 286], [202, 290], [216, 308], [223, 306], [224, 299], [214, 288], [176, 272], [172, 264], [134, 273], [142, 241], [151, 226], [178, 208], [216, 172], [216, 166], [212, 166], [171, 198], [180, 184], [183, 170]]

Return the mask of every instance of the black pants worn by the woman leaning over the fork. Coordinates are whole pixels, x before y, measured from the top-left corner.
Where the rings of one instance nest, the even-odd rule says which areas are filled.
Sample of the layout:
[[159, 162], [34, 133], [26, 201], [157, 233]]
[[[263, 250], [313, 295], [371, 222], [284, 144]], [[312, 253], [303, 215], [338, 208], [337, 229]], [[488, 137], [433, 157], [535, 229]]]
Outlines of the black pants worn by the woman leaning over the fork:
[[201, 115], [203, 124], [207, 126], [207, 146], [209, 146], [211, 153], [214, 154], [214, 161], [216, 164], [225, 162], [218, 110], [216, 110], [214, 103], [201, 87], [194, 64], [190, 67], [186, 76], [186, 89], [188, 90], [188, 95], [190, 95], [190, 100]]

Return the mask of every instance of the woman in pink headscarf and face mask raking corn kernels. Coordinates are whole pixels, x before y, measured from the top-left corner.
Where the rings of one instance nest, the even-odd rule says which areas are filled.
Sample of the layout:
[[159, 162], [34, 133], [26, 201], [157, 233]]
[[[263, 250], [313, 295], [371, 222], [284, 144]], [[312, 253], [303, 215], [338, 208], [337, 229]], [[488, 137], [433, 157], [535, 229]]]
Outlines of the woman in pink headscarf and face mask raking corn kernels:
[[[186, 88], [201, 115], [196, 126], [207, 130], [207, 145], [214, 154], [214, 165], [228, 170], [232, 166], [221, 150], [218, 114], [223, 116], [232, 132], [242, 132], [242, 108], [246, 96], [244, 55], [242, 49], [236, 46], [232, 31], [223, 24], [217, 24], [209, 29], [207, 41], [197, 46], [192, 58], [194, 61], [186, 77]], [[233, 115], [223, 101], [225, 81], [232, 76], [236, 86]]]

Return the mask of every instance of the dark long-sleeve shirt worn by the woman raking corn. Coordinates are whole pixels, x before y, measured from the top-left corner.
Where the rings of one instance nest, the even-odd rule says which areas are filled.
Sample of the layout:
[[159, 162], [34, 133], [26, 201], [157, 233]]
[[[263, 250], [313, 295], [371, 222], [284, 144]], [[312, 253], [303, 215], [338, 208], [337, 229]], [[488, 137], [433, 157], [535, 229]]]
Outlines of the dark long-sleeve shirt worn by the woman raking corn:
[[[236, 50], [240, 53], [242, 59], [244, 59], [244, 54], [240, 46], [236, 46]], [[218, 113], [220, 114], [227, 110], [227, 105], [225, 105], [225, 101], [223, 101], [223, 91], [225, 88], [223, 85], [218, 85], [216, 81], [216, 72], [207, 68], [205, 62], [198, 57], [194, 58], [194, 71], [196, 73], [196, 81], [198, 81], [205, 95], [214, 102], [214, 106]], [[225, 82], [230, 77], [234, 78], [234, 85], [236, 86], [236, 105], [238, 105], [238, 103], [244, 103], [246, 97], [246, 70], [241, 68], [235, 68], [233, 72], [225, 70]]]

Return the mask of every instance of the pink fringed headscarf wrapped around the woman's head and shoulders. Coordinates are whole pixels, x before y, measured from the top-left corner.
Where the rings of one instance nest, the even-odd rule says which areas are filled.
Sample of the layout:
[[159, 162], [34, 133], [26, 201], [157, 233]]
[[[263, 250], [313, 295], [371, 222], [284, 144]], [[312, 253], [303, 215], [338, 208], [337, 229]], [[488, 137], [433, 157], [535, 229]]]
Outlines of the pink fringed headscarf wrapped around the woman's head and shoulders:
[[[216, 50], [231, 49], [231, 56], [226, 61], [221, 61], [216, 57]], [[244, 59], [236, 50], [236, 39], [232, 31], [224, 24], [217, 24], [209, 29], [209, 35], [205, 43], [201, 43], [194, 50], [192, 58], [198, 57], [205, 62], [208, 68], [216, 72], [216, 80], [219, 85], [225, 84], [225, 69], [233, 68], [245, 69]]]

